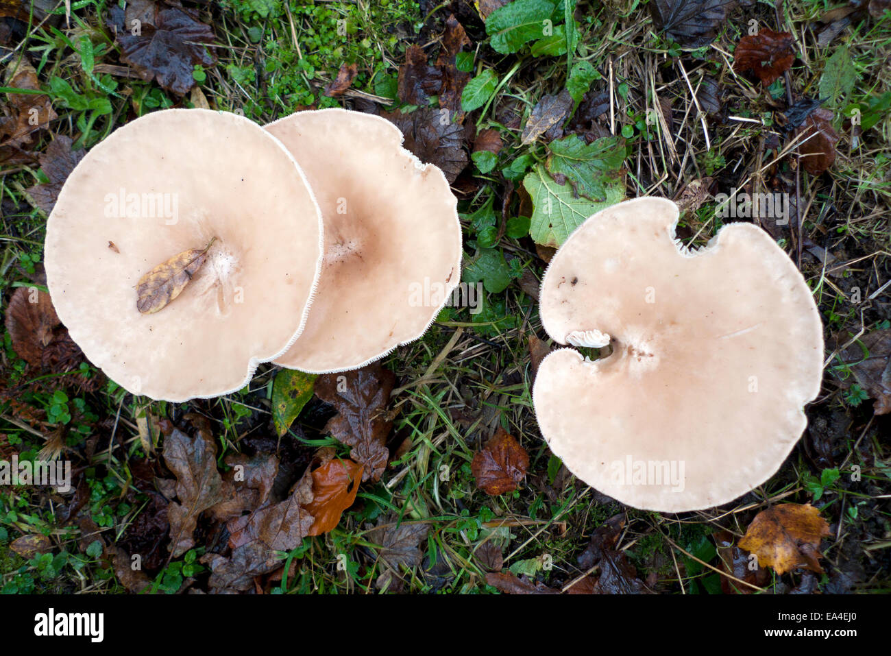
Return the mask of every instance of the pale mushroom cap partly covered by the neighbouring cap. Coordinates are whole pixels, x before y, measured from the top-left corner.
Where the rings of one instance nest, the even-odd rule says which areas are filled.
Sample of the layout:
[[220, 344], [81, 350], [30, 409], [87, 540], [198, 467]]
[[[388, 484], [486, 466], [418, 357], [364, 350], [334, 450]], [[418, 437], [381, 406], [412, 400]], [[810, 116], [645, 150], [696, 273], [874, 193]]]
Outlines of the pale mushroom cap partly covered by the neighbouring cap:
[[417, 340], [461, 278], [461, 223], [446, 176], [370, 114], [300, 111], [266, 129], [303, 165], [325, 224], [307, 328], [275, 364], [347, 371]]

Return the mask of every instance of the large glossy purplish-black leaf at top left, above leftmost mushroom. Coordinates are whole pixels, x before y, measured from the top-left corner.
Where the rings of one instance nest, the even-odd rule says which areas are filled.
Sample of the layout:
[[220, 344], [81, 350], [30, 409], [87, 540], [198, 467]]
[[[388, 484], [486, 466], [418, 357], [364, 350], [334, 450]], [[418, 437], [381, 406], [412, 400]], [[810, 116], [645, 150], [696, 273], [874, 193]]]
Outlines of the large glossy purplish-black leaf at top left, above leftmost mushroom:
[[[138, 21], [135, 23], [134, 21]], [[138, 33], [134, 34], [138, 25]], [[204, 44], [214, 42], [214, 30], [198, 14], [182, 5], [134, 0], [127, 10], [113, 6], [109, 29], [120, 45], [124, 61], [146, 81], [155, 80], [175, 94], [187, 94], [195, 79], [196, 64], [210, 66], [214, 58]]]

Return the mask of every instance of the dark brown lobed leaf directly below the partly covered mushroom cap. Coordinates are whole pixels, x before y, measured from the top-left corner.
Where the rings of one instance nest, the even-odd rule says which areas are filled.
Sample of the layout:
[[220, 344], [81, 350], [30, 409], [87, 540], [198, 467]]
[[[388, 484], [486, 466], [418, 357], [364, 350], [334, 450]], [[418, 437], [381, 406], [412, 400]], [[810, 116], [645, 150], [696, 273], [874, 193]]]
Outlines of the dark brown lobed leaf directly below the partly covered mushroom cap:
[[325, 430], [353, 447], [350, 457], [364, 465], [362, 480], [379, 480], [387, 467], [387, 438], [393, 420], [387, 412], [396, 376], [380, 362], [344, 373], [326, 373], [315, 381], [315, 394], [338, 414]]

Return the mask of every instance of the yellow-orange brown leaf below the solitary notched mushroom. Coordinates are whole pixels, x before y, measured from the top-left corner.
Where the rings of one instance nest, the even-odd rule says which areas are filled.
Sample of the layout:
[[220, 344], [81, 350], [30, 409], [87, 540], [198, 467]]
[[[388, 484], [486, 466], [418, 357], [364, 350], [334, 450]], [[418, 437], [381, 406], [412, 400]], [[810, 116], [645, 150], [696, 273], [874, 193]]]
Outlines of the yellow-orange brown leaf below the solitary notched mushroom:
[[822, 574], [818, 549], [830, 535], [830, 525], [813, 505], [779, 504], [756, 515], [739, 546], [777, 574], [799, 567]]

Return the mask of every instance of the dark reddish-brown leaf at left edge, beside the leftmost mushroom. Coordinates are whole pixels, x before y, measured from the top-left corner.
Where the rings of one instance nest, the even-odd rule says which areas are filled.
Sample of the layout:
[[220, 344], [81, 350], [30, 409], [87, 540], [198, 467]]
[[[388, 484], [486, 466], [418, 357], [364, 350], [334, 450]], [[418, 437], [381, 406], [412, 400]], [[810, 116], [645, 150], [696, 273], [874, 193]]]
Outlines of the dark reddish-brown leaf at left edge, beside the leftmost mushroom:
[[37, 287], [20, 287], [12, 292], [5, 325], [12, 349], [31, 366], [65, 373], [84, 360], [56, 315], [50, 295]]

